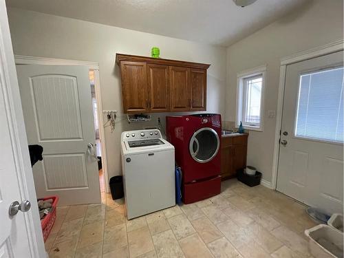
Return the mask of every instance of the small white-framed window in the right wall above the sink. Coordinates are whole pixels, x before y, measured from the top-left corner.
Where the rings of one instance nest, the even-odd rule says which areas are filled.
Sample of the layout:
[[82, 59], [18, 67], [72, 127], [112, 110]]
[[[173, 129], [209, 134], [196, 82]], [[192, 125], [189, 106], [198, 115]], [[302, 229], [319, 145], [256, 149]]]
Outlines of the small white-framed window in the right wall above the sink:
[[263, 131], [265, 67], [238, 75], [237, 126]]

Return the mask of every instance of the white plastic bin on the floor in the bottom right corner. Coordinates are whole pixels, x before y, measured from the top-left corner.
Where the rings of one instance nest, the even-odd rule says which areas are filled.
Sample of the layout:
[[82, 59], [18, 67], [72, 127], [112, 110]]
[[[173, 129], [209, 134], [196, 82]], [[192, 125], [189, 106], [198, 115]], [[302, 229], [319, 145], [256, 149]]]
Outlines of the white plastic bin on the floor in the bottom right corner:
[[320, 224], [305, 230], [308, 248], [315, 258], [343, 258], [343, 233]]

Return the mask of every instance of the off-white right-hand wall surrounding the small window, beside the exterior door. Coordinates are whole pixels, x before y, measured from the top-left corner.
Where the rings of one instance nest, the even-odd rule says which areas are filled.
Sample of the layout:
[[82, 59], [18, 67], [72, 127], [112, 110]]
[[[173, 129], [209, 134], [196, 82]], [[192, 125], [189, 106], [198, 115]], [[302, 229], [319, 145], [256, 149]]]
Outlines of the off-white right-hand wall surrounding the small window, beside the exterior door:
[[343, 39], [343, 1], [314, 0], [228, 47], [225, 120], [235, 121], [237, 73], [267, 65], [264, 131], [250, 131], [247, 160], [264, 180], [271, 182], [276, 118], [268, 118], [268, 110], [277, 110], [280, 59], [339, 39]]

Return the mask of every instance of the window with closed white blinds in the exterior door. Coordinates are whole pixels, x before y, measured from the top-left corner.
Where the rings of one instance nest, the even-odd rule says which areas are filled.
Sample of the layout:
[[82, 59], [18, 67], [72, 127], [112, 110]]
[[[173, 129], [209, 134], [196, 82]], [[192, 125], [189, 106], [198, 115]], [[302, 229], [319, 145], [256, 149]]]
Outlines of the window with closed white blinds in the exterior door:
[[301, 74], [294, 134], [343, 142], [343, 67]]

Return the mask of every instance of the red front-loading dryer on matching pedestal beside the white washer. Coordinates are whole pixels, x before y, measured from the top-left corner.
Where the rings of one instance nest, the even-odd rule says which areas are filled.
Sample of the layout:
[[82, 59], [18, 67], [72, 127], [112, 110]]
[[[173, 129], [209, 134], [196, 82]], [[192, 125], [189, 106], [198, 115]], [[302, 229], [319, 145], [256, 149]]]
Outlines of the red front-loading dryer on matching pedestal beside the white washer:
[[166, 133], [182, 169], [184, 204], [219, 194], [221, 115], [166, 116]]

